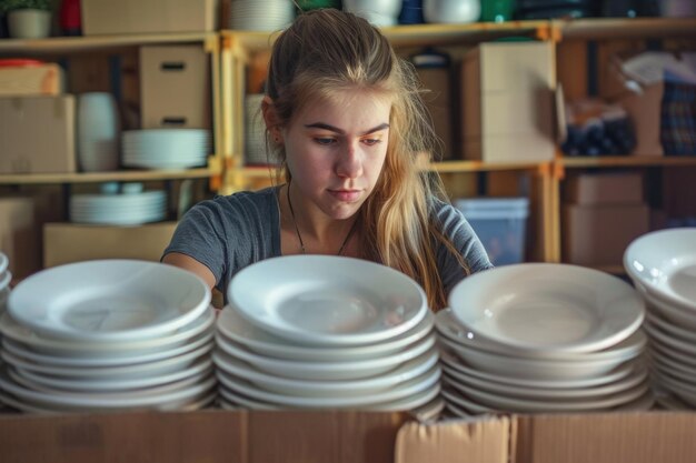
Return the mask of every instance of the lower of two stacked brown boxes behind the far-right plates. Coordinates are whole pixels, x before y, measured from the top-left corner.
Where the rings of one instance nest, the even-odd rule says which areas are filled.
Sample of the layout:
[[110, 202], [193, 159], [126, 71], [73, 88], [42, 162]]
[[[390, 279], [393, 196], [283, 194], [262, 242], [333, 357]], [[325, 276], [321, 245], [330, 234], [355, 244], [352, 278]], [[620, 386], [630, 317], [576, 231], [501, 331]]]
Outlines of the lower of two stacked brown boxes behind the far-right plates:
[[649, 231], [649, 208], [577, 205], [563, 209], [563, 261], [578, 265], [622, 265], [633, 240]]

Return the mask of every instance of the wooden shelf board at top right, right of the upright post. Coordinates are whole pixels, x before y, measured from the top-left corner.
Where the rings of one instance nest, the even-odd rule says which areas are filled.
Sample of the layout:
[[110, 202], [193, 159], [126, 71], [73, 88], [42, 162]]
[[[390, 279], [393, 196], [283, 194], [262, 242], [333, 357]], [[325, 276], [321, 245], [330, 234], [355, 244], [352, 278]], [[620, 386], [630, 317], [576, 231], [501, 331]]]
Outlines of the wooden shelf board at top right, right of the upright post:
[[646, 39], [696, 34], [696, 18], [593, 18], [553, 20], [560, 39]]

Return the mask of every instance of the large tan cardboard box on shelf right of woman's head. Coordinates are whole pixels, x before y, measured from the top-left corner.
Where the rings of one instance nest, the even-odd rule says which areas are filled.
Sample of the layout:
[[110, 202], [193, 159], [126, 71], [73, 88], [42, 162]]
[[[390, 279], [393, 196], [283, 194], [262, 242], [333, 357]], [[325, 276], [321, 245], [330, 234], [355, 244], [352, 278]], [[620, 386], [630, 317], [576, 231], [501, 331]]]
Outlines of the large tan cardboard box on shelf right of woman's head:
[[554, 158], [551, 43], [483, 43], [465, 56], [461, 78], [465, 159], [495, 163]]

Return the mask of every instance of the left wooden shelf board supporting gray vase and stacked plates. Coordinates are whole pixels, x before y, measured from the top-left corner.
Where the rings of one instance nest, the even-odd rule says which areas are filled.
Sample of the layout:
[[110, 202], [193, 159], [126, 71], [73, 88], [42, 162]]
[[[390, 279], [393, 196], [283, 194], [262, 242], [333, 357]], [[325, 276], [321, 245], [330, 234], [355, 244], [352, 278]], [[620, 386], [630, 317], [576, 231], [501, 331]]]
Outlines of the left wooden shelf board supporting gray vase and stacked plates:
[[0, 184], [99, 183], [111, 181], [150, 181], [171, 179], [207, 179], [219, 175], [219, 169], [133, 170], [80, 173], [0, 174]]

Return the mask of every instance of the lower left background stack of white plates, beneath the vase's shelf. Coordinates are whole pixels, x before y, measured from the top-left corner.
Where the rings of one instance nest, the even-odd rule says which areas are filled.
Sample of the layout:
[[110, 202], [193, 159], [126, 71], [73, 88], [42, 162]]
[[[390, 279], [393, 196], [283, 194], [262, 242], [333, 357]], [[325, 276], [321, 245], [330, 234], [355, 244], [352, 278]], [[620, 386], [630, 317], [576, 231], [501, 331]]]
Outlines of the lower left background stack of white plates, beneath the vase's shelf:
[[163, 190], [120, 194], [73, 194], [70, 221], [111, 225], [136, 225], [167, 218]]

